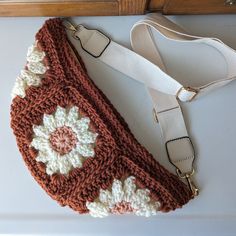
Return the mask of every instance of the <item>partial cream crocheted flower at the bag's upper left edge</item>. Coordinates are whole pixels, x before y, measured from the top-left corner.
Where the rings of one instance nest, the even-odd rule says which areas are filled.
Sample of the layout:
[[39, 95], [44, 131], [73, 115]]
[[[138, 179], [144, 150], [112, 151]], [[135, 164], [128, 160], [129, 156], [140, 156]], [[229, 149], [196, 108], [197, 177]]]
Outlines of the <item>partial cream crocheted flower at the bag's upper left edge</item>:
[[45, 53], [37, 47], [37, 41], [29, 47], [27, 52], [27, 69], [22, 70], [17, 77], [12, 90], [12, 98], [15, 96], [25, 97], [25, 90], [29, 86], [39, 86], [41, 84], [41, 76], [47, 71], [47, 67], [43, 63]]

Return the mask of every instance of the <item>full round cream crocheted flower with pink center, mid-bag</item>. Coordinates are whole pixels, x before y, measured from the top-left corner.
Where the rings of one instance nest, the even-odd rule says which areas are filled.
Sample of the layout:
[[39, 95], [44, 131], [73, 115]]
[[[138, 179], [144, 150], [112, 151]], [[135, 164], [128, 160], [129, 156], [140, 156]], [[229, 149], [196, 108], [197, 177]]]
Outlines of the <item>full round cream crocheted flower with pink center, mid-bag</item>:
[[83, 161], [95, 155], [97, 133], [89, 131], [90, 119], [79, 117], [76, 106], [57, 107], [52, 115], [44, 115], [43, 124], [34, 126], [31, 146], [38, 150], [36, 161], [46, 164], [46, 173], [68, 174], [82, 167]]

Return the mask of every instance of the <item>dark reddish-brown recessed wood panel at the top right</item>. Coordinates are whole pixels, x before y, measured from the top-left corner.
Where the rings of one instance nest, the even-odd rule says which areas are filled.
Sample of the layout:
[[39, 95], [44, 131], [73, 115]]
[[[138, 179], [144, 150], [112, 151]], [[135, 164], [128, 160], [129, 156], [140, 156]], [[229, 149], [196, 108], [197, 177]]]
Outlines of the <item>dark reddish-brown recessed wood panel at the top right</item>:
[[227, 5], [225, 0], [168, 0], [164, 14], [218, 14], [236, 13], [236, 5]]

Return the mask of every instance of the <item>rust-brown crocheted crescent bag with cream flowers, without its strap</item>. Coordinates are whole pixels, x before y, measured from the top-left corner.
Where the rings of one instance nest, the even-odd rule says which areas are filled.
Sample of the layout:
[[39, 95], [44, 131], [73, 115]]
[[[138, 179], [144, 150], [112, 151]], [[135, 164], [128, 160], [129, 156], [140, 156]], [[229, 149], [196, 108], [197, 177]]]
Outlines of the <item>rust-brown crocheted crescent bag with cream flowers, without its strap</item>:
[[47, 20], [36, 34], [12, 96], [11, 127], [23, 159], [62, 206], [98, 217], [151, 216], [191, 199], [89, 78], [61, 19]]

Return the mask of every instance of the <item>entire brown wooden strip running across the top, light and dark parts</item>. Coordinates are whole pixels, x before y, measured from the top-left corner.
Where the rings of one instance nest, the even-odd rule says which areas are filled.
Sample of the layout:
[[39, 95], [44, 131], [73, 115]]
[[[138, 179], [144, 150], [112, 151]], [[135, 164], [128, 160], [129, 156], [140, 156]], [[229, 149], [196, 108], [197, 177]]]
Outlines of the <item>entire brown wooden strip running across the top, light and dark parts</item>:
[[236, 13], [225, 0], [0, 0], [0, 16], [114, 16]]

